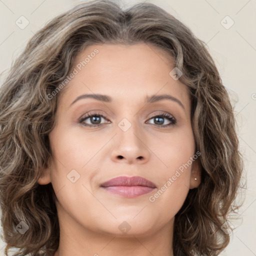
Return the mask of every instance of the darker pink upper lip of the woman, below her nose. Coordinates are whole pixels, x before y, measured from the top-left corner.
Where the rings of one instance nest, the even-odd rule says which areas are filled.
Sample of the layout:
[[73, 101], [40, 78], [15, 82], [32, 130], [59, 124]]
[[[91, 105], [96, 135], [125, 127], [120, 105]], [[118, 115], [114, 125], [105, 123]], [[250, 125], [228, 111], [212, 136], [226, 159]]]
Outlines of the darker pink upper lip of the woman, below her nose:
[[140, 176], [118, 176], [103, 182], [100, 186], [149, 186], [153, 188], [156, 187], [156, 185], [153, 182]]

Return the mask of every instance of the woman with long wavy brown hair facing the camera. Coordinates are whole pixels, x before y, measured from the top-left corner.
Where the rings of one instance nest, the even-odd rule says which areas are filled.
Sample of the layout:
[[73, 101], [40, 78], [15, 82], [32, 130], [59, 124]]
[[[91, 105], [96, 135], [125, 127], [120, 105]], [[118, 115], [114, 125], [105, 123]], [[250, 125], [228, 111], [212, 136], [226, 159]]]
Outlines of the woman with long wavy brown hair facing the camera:
[[[15, 255], [218, 255], [242, 173], [204, 43], [151, 3], [82, 3], [0, 88], [0, 205]], [[15, 227], [15, 228], [13, 228]]]

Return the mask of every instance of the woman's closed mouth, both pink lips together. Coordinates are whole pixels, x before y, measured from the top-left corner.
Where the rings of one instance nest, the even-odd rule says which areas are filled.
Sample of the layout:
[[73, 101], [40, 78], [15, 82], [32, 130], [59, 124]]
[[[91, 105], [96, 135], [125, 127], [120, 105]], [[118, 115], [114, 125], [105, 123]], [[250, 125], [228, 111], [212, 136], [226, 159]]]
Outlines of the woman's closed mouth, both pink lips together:
[[137, 197], [156, 189], [156, 185], [140, 176], [119, 176], [102, 183], [103, 189], [122, 197]]

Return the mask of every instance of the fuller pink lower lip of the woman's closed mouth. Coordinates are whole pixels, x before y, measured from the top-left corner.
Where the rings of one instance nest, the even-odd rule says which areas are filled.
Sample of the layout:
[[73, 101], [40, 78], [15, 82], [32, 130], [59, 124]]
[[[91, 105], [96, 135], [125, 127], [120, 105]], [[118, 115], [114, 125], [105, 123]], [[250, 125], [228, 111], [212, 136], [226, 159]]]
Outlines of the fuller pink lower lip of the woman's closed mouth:
[[119, 194], [124, 197], [136, 197], [152, 192], [156, 187], [149, 186], [106, 186], [103, 187], [110, 193]]

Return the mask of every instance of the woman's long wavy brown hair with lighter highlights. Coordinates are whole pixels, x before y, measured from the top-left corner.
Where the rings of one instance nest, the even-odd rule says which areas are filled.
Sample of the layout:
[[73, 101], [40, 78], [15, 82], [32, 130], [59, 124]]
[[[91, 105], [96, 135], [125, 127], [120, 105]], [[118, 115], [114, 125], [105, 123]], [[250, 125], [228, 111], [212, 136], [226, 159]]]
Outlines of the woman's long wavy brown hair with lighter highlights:
[[[152, 3], [125, 10], [93, 0], [56, 16], [30, 38], [0, 87], [0, 208], [5, 254], [53, 255], [59, 245], [56, 195], [40, 185], [51, 157], [48, 134], [57, 98], [49, 94], [66, 78], [75, 57], [88, 45], [144, 42], [164, 50], [191, 98], [201, 183], [189, 189], [175, 215], [173, 253], [218, 255], [229, 243], [222, 231], [240, 187], [243, 161], [228, 93], [206, 49], [191, 30]], [[171, 68], [171, 67], [170, 67]], [[171, 70], [171, 69], [170, 69]], [[62, 92], [62, 91], [61, 91]], [[29, 230], [15, 228], [23, 220]]]

